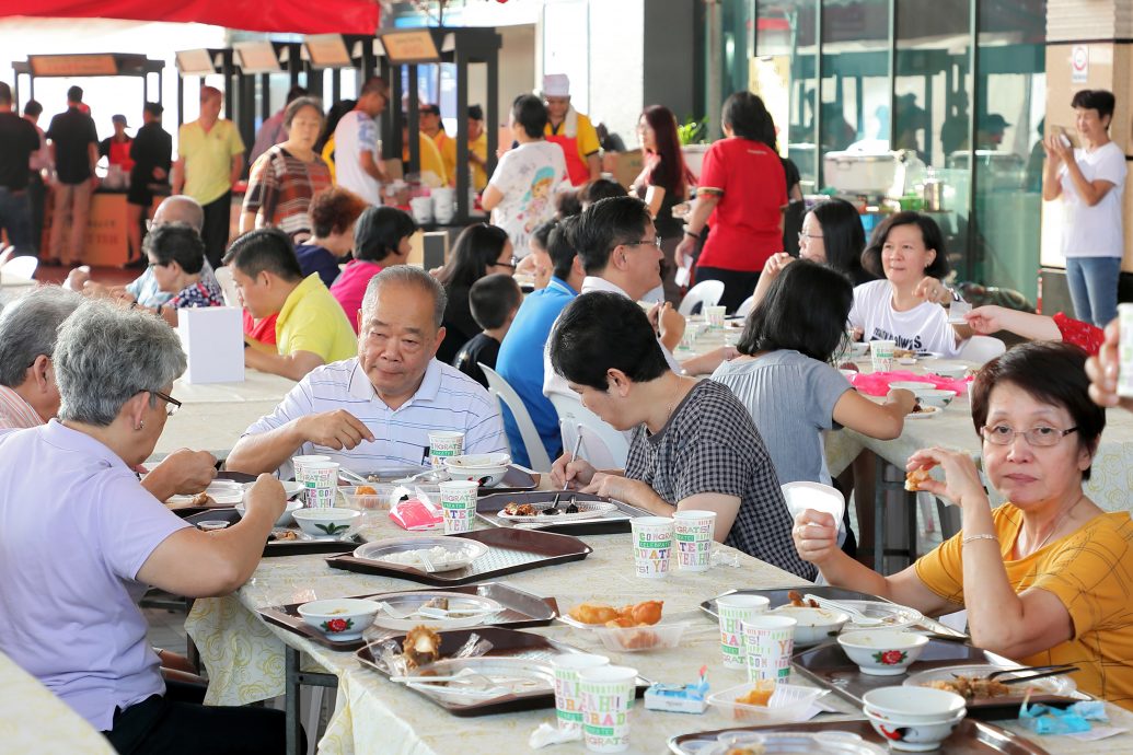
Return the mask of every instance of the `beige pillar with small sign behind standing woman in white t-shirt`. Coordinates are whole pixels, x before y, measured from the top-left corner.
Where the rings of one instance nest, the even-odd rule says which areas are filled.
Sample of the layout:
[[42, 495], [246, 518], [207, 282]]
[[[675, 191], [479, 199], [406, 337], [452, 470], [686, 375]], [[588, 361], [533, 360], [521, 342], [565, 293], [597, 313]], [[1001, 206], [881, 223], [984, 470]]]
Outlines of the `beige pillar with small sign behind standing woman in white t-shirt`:
[[[1047, 2], [1047, 129], [1060, 126], [1074, 132], [1070, 106], [1080, 89], [1109, 89], [1117, 98], [1109, 138], [1133, 157], [1133, 0], [1048, 0]], [[1088, 58], [1085, 80], [1075, 80], [1074, 55]], [[1133, 272], [1133, 174], [1125, 185], [1125, 259]], [[1043, 261], [1057, 257], [1060, 225], [1057, 213], [1043, 217]]]

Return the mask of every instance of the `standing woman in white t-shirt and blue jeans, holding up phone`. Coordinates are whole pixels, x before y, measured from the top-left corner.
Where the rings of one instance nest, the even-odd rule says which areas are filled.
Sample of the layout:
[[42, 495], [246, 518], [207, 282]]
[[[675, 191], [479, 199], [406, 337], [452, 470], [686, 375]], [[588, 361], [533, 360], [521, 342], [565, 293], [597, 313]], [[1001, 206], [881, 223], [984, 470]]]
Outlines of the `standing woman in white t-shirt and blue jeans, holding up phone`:
[[1047, 153], [1042, 198], [1063, 200], [1062, 250], [1074, 314], [1105, 327], [1117, 316], [1117, 278], [1125, 251], [1125, 155], [1109, 139], [1111, 92], [1082, 89], [1071, 106], [1082, 146], [1072, 149], [1060, 129], [1050, 129], [1042, 143]]

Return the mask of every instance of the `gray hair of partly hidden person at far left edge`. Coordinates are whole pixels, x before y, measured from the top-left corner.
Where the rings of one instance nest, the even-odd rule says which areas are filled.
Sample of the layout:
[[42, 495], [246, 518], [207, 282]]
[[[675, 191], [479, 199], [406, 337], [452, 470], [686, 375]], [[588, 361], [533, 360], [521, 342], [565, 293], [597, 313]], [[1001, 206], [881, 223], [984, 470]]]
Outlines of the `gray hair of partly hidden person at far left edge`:
[[58, 285], [34, 289], [0, 314], [0, 385], [23, 385], [36, 358], [56, 353], [59, 325], [83, 297]]

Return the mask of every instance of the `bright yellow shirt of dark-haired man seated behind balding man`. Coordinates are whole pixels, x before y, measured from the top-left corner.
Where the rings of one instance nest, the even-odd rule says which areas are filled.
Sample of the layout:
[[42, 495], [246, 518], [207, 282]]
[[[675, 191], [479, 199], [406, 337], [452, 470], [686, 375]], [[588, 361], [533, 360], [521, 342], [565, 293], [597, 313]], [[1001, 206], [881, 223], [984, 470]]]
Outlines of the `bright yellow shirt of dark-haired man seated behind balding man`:
[[318, 273], [308, 275], [288, 294], [275, 320], [275, 345], [283, 357], [309, 351], [327, 364], [358, 354], [358, 336]]

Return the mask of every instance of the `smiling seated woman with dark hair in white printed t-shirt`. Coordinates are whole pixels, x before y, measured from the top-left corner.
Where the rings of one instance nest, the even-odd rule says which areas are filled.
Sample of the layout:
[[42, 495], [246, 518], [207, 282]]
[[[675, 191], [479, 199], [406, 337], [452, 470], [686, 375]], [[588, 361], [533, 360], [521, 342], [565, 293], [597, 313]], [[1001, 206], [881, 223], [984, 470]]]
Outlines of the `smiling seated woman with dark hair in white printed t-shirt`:
[[968, 326], [948, 324], [947, 304], [956, 295], [942, 282], [948, 274], [944, 237], [936, 222], [920, 213], [891, 215], [874, 232], [862, 252], [867, 269], [885, 280], [853, 290], [850, 327], [864, 341], [894, 341], [897, 349], [955, 357]]

